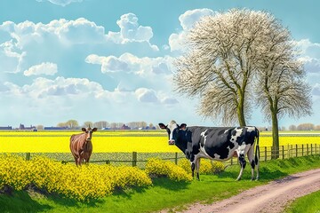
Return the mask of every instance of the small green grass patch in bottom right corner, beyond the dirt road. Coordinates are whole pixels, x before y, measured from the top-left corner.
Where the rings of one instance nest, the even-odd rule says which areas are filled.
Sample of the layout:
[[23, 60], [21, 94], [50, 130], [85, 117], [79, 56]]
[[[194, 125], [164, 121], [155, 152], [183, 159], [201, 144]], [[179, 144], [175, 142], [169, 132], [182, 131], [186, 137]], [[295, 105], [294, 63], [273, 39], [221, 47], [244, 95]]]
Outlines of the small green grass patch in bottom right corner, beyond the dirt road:
[[320, 191], [310, 193], [293, 201], [286, 213], [320, 213]]

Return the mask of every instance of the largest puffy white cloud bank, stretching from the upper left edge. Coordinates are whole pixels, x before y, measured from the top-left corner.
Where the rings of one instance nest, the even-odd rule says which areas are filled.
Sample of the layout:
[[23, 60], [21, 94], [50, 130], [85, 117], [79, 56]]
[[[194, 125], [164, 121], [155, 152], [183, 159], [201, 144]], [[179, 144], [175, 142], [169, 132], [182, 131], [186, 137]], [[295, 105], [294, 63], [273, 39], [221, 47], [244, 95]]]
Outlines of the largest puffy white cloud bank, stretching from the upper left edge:
[[43, 61], [55, 61], [63, 72], [60, 64], [68, 64], [71, 59], [77, 59], [76, 63], [83, 55], [94, 52], [121, 54], [140, 50], [148, 55], [159, 51], [149, 43], [152, 28], [140, 26], [134, 14], [124, 14], [117, 22], [120, 32], [105, 34], [104, 27], [84, 18], [52, 20], [47, 24], [5, 21], [0, 24], [0, 71], [18, 73]]

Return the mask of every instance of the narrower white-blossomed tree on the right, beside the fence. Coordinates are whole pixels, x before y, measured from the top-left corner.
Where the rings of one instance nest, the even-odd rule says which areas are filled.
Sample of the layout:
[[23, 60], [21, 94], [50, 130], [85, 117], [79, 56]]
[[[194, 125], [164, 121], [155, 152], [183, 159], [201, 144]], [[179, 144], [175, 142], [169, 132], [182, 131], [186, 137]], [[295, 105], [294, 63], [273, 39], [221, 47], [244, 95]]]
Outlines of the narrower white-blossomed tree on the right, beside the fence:
[[[291, 34], [270, 14], [263, 36], [257, 67], [256, 94], [258, 105], [272, 122], [273, 146], [279, 147], [278, 119], [311, 114], [311, 89], [305, 81], [303, 64], [298, 60]], [[278, 157], [278, 150], [274, 155]]]

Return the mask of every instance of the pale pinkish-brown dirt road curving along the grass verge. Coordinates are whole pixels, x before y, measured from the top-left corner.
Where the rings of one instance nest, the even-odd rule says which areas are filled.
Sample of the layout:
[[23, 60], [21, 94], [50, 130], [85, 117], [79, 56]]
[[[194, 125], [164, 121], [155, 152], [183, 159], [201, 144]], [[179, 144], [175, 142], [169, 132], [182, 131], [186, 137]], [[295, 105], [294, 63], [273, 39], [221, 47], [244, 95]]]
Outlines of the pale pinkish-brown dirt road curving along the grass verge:
[[309, 170], [254, 187], [223, 201], [208, 205], [192, 204], [184, 212], [277, 213], [283, 212], [290, 201], [319, 190], [320, 169]]

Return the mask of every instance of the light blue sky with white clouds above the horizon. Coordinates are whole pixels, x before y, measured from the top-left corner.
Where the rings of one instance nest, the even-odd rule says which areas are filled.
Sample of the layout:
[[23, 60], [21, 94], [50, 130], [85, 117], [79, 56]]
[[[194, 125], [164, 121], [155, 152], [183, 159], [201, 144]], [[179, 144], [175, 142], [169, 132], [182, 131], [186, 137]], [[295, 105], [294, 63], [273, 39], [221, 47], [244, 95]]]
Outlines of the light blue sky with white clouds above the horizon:
[[[173, 90], [172, 61], [197, 20], [232, 8], [270, 12], [301, 51], [313, 114], [284, 116], [279, 125], [320, 124], [317, 0], [1, 0], [0, 126], [71, 119], [222, 125], [197, 114], [198, 98]], [[247, 124], [270, 121], [254, 108]]]

